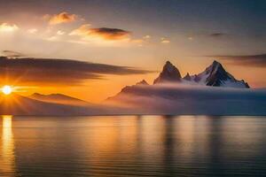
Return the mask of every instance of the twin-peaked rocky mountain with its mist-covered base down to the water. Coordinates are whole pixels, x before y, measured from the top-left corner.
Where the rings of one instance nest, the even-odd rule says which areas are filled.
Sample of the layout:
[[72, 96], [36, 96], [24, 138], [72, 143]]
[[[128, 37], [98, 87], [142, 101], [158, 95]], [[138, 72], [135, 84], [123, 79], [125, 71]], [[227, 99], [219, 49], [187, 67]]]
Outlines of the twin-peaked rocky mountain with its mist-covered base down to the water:
[[106, 102], [137, 114], [265, 115], [266, 90], [246, 88], [245, 81], [235, 79], [217, 61], [184, 78], [167, 62], [153, 85], [137, 82]]

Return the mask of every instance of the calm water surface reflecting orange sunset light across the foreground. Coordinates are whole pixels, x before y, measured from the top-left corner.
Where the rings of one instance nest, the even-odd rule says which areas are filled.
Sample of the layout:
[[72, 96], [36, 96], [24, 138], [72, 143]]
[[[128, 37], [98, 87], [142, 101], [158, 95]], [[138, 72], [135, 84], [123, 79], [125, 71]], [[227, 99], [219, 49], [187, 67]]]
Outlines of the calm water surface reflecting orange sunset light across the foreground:
[[266, 117], [0, 120], [0, 176], [266, 176]]

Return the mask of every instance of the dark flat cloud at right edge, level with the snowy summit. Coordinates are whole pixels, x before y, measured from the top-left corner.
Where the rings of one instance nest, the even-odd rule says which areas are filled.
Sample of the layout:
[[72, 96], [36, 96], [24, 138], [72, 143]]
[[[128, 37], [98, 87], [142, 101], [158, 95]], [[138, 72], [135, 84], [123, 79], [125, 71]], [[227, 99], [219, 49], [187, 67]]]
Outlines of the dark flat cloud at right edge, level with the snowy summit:
[[231, 65], [245, 65], [254, 67], [266, 66], [266, 54], [257, 55], [224, 55], [224, 56], [207, 56], [211, 58], [219, 58], [227, 61]]

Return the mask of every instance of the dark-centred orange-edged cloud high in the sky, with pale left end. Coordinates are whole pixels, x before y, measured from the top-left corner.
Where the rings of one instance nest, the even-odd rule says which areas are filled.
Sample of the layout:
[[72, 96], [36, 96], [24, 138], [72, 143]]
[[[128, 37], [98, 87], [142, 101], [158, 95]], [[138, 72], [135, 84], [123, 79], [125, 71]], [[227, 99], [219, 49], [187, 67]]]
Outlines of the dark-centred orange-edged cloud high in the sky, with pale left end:
[[90, 24], [85, 24], [74, 29], [69, 35], [79, 35], [85, 39], [97, 37], [107, 41], [116, 41], [129, 39], [130, 32], [119, 28], [90, 28]]

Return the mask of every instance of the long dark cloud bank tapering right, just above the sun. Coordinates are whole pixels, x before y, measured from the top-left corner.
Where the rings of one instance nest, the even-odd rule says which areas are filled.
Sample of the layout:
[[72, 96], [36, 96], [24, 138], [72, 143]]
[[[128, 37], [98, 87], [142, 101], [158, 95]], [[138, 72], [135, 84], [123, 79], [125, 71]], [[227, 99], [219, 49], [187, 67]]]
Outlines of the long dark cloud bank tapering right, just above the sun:
[[81, 85], [84, 81], [104, 79], [107, 74], [151, 73], [128, 66], [106, 65], [54, 58], [0, 57], [0, 81], [23, 85]]

